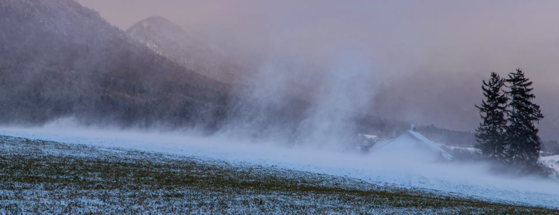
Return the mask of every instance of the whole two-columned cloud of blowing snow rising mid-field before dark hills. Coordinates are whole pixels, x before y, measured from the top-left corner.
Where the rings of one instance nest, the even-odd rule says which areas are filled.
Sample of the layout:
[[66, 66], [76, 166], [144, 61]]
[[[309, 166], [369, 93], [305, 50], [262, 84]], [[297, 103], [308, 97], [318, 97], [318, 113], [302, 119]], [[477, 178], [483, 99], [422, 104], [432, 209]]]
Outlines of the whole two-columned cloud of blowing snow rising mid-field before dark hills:
[[[238, 83], [235, 93], [241, 99], [232, 102], [221, 133], [286, 145], [339, 147], [354, 141], [354, 118], [369, 111], [372, 89], [380, 81], [378, 71], [358, 51], [339, 52], [330, 64], [314, 71], [285, 66], [274, 57]], [[317, 90], [310, 96], [293, 90], [309, 74], [315, 77], [304, 84]], [[308, 99], [306, 105], [293, 106], [297, 98]], [[300, 114], [290, 114], [294, 111]]]

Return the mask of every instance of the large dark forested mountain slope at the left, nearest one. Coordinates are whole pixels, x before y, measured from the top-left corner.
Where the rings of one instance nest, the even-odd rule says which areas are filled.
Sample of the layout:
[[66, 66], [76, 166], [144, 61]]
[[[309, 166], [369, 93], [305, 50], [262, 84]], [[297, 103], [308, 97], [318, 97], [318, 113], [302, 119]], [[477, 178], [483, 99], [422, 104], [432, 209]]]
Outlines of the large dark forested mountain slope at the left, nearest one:
[[215, 124], [230, 90], [72, 0], [0, 1], [0, 75], [4, 123], [74, 114], [122, 125]]

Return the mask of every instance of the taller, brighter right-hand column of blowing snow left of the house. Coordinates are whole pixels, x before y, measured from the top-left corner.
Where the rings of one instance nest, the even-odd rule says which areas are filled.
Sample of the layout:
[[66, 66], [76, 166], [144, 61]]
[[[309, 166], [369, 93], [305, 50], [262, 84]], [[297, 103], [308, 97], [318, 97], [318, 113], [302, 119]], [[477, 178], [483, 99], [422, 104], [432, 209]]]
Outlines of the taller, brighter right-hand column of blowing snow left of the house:
[[340, 55], [326, 71], [307, 118], [297, 127], [295, 142], [343, 146], [354, 141], [354, 118], [369, 110], [375, 73], [358, 55]]

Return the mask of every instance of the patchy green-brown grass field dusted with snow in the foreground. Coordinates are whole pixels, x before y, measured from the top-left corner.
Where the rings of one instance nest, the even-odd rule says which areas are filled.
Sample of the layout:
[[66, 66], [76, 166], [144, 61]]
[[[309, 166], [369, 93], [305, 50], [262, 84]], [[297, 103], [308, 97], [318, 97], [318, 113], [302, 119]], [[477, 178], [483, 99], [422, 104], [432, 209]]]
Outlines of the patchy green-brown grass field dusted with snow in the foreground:
[[559, 214], [302, 171], [0, 136], [0, 213]]

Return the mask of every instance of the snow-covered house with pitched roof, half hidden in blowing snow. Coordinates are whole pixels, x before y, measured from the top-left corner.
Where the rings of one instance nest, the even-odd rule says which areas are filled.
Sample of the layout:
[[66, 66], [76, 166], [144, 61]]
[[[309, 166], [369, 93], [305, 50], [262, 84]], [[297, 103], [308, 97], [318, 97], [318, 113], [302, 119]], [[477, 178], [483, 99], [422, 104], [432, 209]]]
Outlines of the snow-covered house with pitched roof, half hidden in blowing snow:
[[368, 151], [375, 156], [405, 156], [425, 161], [453, 160], [451, 154], [415, 131], [415, 125], [394, 139], [377, 141]]

